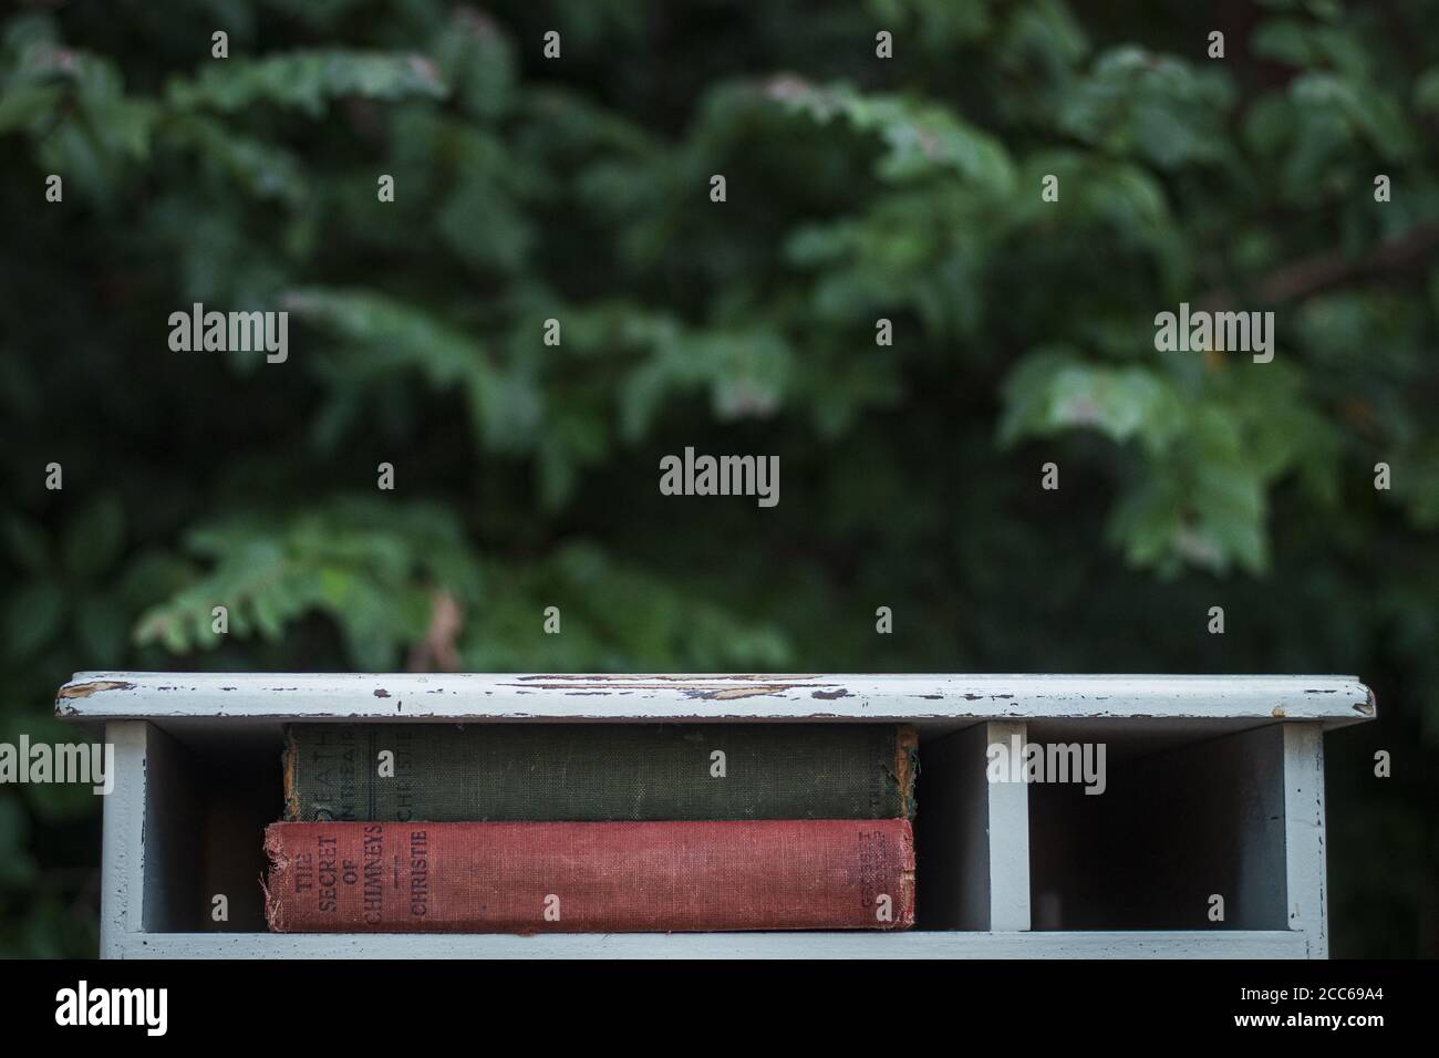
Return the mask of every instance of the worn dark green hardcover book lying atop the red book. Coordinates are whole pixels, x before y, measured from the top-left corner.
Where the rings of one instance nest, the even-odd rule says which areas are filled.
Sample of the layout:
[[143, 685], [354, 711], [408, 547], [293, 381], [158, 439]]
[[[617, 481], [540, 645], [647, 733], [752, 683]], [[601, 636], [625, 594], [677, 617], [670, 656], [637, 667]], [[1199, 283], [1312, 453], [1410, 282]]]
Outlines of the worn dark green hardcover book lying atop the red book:
[[914, 815], [908, 725], [295, 724], [286, 743], [294, 822]]

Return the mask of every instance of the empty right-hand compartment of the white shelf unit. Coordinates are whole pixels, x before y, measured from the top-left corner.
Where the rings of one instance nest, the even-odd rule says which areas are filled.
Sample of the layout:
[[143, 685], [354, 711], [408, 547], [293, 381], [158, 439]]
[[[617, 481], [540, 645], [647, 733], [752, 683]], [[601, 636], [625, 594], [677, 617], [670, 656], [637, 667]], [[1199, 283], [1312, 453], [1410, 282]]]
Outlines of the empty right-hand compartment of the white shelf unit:
[[[1035, 724], [1040, 744], [1107, 744], [1104, 795], [1029, 792], [1035, 930], [1322, 926], [1322, 740], [1269, 723], [1180, 738], [1163, 723]], [[1212, 917], [1213, 897], [1223, 918]]]

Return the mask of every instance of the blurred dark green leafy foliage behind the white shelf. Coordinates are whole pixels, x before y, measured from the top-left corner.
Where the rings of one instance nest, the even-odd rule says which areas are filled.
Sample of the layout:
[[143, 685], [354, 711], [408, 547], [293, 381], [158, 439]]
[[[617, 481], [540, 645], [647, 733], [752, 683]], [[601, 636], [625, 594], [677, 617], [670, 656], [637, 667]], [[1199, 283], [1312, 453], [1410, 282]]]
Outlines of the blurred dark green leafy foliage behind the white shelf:
[[[101, 668], [1357, 672], [1334, 951], [1439, 953], [1436, 20], [12, 7], [0, 737]], [[1272, 309], [1274, 363], [1156, 353], [1181, 301]], [[289, 360], [170, 351], [193, 302]], [[661, 497], [685, 445], [780, 505]], [[0, 951], [94, 950], [96, 833], [0, 790]]]

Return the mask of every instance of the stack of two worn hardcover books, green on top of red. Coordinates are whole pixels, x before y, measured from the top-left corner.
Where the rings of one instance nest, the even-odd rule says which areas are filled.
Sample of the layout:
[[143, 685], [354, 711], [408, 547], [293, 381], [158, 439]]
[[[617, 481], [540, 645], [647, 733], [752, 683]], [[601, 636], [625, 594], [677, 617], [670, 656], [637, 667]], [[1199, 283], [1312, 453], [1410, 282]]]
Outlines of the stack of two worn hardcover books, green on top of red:
[[279, 933], [914, 924], [911, 727], [289, 728]]

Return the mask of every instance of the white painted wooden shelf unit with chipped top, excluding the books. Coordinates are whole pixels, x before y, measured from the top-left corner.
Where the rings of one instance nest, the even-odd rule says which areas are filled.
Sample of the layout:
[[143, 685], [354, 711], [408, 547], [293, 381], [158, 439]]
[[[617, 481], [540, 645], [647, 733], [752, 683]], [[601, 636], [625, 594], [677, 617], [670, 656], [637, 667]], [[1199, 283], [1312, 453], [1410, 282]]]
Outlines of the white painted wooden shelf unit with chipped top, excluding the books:
[[[1325, 957], [1324, 731], [1353, 677], [82, 672], [56, 713], [115, 744], [106, 957]], [[263, 931], [281, 731], [332, 723], [912, 723], [905, 933]], [[993, 743], [1104, 743], [1108, 789], [990, 783]], [[223, 892], [229, 923], [210, 923]], [[1210, 895], [1225, 921], [1209, 920]]]

